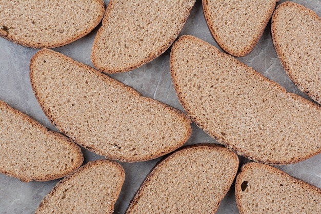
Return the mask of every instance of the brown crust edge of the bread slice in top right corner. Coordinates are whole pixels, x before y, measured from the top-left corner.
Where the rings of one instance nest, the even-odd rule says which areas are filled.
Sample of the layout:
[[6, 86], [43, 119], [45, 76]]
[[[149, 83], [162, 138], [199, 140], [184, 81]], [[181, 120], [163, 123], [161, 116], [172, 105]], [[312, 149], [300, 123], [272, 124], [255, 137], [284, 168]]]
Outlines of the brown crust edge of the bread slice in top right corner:
[[[272, 22], [271, 22], [271, 35], [272, 35], [272, 42], [275, 48], [275, 51], [278, 55], [278, 58], [285, 69], [286, 73], [290, 77], [291, 81], [305, 94], [307, 94], [311, 99], [321, 104], [321, 96], [319, 95], [320, 91], [313, 91], [310, 89], [306, 89], [305, 83], [300, 82], [297, 80], [295, 76], [295, 68], [291, 67], [288, 63], [287, 56], [285, 55], [283, 48], [280, 47], [280, 41], [277, 38], [277, 22], [278, 22], [278, 16], [279, 11], [283, 10], [284, 8], [291, 8], [295, 7], [298, 8], [300, 11], [303, 11], [304, 13], [308, 13], [311, 18], [317, 23], [321, 23], [321, 17], [319, 17], [314, 11], [310, 10], [309, 8], [304, 7], [303, 5], [296, 4], [294, 2], [284, 2], [282, 4], [279, 4], [272, 16]], [[299, 29], [298, 29], [299, 30]], [[282, 36], [283, 37], [283, 36]], [[311, 56], [312, 57], [312, 56]], [[292, 59], [290, 59], [292, 60]], [[321, 65], [319, 65], [320, 67]]]

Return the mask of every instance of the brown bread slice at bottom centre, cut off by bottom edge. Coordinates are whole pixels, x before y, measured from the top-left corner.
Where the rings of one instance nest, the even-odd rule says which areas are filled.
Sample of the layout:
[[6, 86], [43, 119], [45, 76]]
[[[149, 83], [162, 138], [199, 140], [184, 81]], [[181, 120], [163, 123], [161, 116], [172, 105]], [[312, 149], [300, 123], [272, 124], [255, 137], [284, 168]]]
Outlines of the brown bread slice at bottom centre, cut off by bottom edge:
[[214, 213], [238, 163], [234, 152], [217, 144], [180, 149], [149, 173], [126, 213]]

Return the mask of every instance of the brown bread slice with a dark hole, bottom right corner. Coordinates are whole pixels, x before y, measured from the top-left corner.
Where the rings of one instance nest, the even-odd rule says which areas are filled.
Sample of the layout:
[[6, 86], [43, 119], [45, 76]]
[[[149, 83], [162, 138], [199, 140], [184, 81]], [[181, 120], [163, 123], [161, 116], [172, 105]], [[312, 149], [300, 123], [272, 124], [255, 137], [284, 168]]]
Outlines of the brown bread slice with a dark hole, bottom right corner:
[[321, 189], [265, 164], [242, 167], [235, 195], [242, 214], [321, 213]]

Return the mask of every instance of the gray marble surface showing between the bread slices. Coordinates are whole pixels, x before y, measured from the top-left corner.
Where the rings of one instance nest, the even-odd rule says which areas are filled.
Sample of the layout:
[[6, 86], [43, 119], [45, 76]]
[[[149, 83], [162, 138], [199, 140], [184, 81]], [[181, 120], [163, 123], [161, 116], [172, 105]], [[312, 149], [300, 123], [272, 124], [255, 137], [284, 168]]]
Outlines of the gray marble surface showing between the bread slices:
[[[105, 1], [106, 5], [108, 2]], [[315, 11], [319, 16], [321, 15], [320, 0], [295, 0], [293, 2], [302, 4]], [[96, 32], [94, 30], [89, 35], [54, 50], [92, 66], [90, 52]], [[202, 5], [199, 0], [196, 1], [181, 35], [183, 34], [197, 36], [218, 47], [206, 25]], [[0, 100], [29, 114], [46, 127], [56, 130], [42, 112], [31, 90], [29, 62], [36, 51], [36, 49], [19, 46], [0, 38]], [[291, 82], [278, 60], [271, 40], [270, 23], [254, 50], [249, 55], [239, 58], [239, 60], [253, 67], [269, 79], [276, 81], [288, 91], [307, 98]], [[157, 59], [141, 68], [111, 76], [132, 86], [144, 96], [182, 110], [170, 78], [169, 51], [166, 51]], [[209, 135], [196, 127], [196, 125], [192, 124], [192, 128], [192, 136], [186, 145], [203, 142], [216, 143], [214, 139], [210, 138]], [[86, 149], [83, 149], [83, 152], [85, 163], [103, 158]], [[159, 159], [139, 163], [121, 163], [126, 172], [126, 179], [121, 195], [115, 204], [114, 213], [125, 212], [135, 191], [157, 161]], [[247, 161], [247, 159], [240, 157], [241, 164]], [[321, 154], [297, 164], [277, 167], [286, 171], [291, 176], [321, 188]], [[34, 213], [41, 200], [57, 182], [58, 180], [23, 183], [18, 179], [0, 174], [0, 213]], [[238, 213], [233, 185], [219, 206], [217, 213]]]

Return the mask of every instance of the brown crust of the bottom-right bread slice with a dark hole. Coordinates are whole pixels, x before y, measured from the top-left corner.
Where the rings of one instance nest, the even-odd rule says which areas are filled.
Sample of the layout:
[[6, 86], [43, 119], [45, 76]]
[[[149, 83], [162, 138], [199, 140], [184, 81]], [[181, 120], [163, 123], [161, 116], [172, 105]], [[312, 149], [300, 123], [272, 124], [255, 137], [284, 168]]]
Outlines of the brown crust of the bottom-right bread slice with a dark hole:
[[[319, 189], [319, 188], [317, 188], [307, 182], [304, 182], [302, 180], [294, 178], [294, 177], [290, 176], [289, 174], [287, 174], [286, 172], [279, 170], [273, 166], [250, 162], [250, 163], [246, 163], [245, 165], [242, 166], [240, 172], [237, 174], [236, 181], [235, 181], [236, 204], [237, 204], [239, 212], [242, 214], [251, 213], [251, 211], [249, 212], [249, 210], [246, 210], [245, 207], [243, 207], [243, 204], [242, 204], [241, 198], [240, 198], [240, 197], [242, 197], [240, 195], [240, 193], [242, 191], [244, 191], [244, 189], [242, 190], [242, 183], [243, 183], [243, 181], [245, 181], [247, 171], [250, 170], [251, 168], [261, 168], [262, 170], [266, 170], [269, 174], [274, 174], [275, 177], [285, 178], [289, 184], [295, 184], [295, 185], [299, 186], [300, 188], [305, 189], [306, 192], [317, 192], [317, 194], [319, 194], [319, 196], [321, 197], [321, 189]], [[253, 180], [259, 179], [259, 176], [257, 174], [253, 174], [252, 176], [253, 177], [251, 179], [253, 179]], [[250, 181], [247, 181], [247, 182], [250, 183]], [[273, 183], [273, 181], [271, 181], [271, 182]], [[243, 188], [245, 188], [245, 187], [243, 187]], [[269, 191], [269, 189], [267, 189], [267, 191]], [[280, 193], [280, 196], [278, 196], [278, 197], [282, 197], [284, 195], [291, 194], [291, 192], [279, 192], [279, 193]], [[263, 203], [268, 203], [266, 201], [260, 201], [259, 199], [258, 199], [258, 201], [263, 202]], [[297, 204], [297, 205], [299, 206], [299, 204]], [[273, 206], [273, 204], [271, 204], [271, 206]]]

